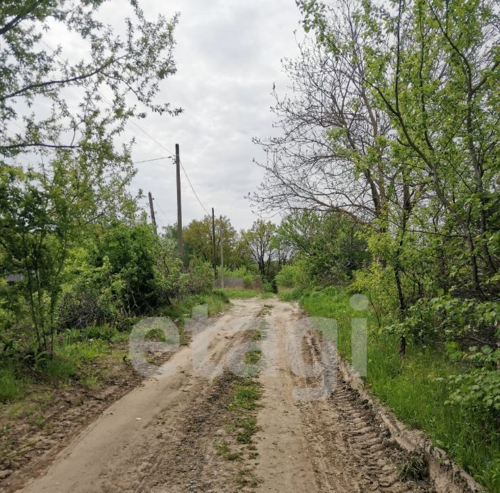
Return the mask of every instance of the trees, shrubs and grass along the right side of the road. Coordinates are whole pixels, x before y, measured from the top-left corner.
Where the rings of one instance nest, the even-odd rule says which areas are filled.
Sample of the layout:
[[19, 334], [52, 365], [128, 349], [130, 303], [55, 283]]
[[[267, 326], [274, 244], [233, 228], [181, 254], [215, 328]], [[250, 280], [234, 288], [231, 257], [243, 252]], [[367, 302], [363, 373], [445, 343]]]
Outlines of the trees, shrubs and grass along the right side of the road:
[[[500, 31], [493, 1], [299, 1], [260, 210], [283, 299], [368, 318], [367, 383], [500, 491]], [[367, 296], [353, 310], [349, 296]]]

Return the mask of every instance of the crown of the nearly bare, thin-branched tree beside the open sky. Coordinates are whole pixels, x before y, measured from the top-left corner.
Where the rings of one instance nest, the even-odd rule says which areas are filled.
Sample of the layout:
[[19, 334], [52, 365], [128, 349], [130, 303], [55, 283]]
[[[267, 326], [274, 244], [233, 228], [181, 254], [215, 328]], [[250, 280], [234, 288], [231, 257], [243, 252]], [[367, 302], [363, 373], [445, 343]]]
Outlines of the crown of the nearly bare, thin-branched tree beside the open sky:
[[389, 117], [364, 81], [365, 40], [353, 6], [338, 2], [328, 18], [342, 49], [306, 38], [299, 57], [283, 62], [292, 94], [274, 91], [281, 132], [255, 139], [268, 156], [258, 163], [265, 180], [249, 197], [261, 210], [336, 211], [361, 224], [386, 213], [399, 169], [388, 166]]

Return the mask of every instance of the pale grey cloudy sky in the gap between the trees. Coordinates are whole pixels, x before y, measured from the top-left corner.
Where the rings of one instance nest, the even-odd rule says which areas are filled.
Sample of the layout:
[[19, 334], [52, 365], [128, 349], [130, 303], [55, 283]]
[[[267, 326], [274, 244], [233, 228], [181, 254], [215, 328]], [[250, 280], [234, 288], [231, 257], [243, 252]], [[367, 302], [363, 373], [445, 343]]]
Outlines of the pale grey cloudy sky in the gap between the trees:
[[[288, 84], [280, 60], [297, 53], [294, 31], [301, 28], [295, 1], [168, 0], [142, 1], [141, 6], [151, 18], [159, 11], [181, 12], [175, 34], [178, 72], [162, 86], [160, 98], [185, 112], [174, 118], [153, 115], [139, 124], [172, 152], [180, 144], [183, 166], [207, 210], [214, 207], [236, 228], [248, 228], [256, 216], [243, 196], [262, 178], [252, 162], [262, 158], [262, 151], [251, 138], [272, 133], [272, 85], [283, 92]], [[165, 156], [138, 128], [128, 125], [128, 133], [137, 141], [135, 161]], [[171, 160], [138, 168], [133, 186], [152, 192], [158, 224], [176, 222]], [[187, 224], [205, 212], [182, 179]]]

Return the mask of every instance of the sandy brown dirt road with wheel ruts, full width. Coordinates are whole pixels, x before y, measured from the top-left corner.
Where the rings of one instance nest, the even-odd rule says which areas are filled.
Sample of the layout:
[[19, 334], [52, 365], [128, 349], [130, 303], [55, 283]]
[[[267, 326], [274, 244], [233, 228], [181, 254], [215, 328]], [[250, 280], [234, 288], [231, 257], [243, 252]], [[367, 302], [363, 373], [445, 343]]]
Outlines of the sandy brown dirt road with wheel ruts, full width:
[[[297, 306], [233, 303], [172, 356], [162, 367], [166, 376], [113, 404], [22, 491], [432, 491], [426, 481], [399, 480], [406, 454], [340, 374], [333, 391], [324, 389], [335, 376], [335, 361], [323, 357], [331, 348], [314, 330], [290, 342]], [[233, 401], [244, 379], [230, 369], [256, 344], [262, 358], [253, 381], [262, 392], [243, 422]], [[290, 354], [301, 356], [294, 371]], [[305, 387], [324, 390], [308, 400]]]

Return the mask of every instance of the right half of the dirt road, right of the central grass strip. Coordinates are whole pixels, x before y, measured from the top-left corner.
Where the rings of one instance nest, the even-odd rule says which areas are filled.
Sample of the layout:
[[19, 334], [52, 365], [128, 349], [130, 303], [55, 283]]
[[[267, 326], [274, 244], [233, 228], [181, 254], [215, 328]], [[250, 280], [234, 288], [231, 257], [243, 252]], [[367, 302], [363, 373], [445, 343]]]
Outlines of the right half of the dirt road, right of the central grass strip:
[[[267, 399], [259, 415], [264, 429], [256, 472], [264, 483], [258, 491], [433, 492], [427, 480], [399, 478], [408, 453], [344, 381], [333, 344], [297, 307], [273, 305], [266, 321], [274, 337], [274, 376], [261, 380]], [[308, 469], [312, 474], [301, 473], [302, 484], [286, 473]]]

